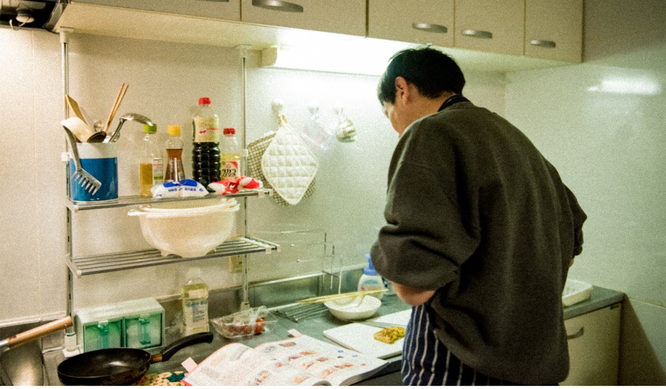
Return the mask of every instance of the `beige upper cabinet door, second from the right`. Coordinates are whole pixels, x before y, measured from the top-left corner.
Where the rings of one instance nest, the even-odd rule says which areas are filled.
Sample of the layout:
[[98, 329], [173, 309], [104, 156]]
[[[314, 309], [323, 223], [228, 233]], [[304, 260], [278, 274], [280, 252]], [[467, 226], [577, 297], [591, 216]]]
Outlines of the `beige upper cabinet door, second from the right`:
[[455, 47], [523, 55], [524, 31], [525, 0], [456, 0]]

